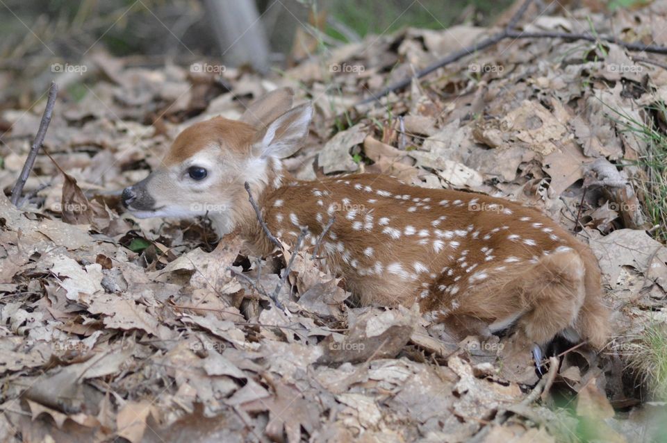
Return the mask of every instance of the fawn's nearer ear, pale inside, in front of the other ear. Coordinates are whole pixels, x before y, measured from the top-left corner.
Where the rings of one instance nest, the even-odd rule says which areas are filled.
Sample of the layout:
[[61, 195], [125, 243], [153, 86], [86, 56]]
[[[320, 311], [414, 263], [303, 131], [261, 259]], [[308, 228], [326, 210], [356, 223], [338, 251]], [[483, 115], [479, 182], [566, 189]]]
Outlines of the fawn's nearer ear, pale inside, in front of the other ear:
[[304, 103], [274, 120], [265, 132], [259, 131], [253, 153], [261, 157], [286, 158], [299, 150], [308, 135], [313, 106]]

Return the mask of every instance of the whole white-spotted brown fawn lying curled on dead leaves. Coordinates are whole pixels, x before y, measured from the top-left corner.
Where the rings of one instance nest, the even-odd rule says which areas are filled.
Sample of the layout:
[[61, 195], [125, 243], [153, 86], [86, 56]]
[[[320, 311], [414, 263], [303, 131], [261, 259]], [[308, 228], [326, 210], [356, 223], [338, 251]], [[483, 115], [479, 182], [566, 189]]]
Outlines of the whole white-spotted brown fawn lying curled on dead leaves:
[[220, 235], [235, 231], [246, 252], [263, 256], [274, 245], [247, 182], [267, 227], [288, 244], [306, 227], [315, 245], [336, 215], [319, 253], [365, 305], [419, 303], [425, 319], [455, 329], [513, 326], [525, 346], [559, 334], [604, 346], [608, 312], [587, 246], [541, 212], [484, 194], [374, 174], [295, 181], [281, 158], [304, 142], [313, 109], [292, 101], [291, 90], [275, 90], [240, 121], [186, 128], [163, 165], [123, 191], [124, 206], [137, 217], [208, 215]]

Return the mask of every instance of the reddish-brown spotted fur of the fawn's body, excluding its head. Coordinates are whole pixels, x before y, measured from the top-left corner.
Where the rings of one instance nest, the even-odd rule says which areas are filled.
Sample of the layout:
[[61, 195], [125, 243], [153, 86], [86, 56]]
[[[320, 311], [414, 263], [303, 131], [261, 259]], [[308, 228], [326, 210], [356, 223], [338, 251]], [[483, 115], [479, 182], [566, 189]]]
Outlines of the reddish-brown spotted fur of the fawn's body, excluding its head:
[[[371, 192], [366, 192], [363, 188], [356, 190], [355, 184], [363, 187], [368, 185]], [[316, 197], [313, 190], [328, 192], [329, 195]], [[383, 198], [377, 195], [377, 190], [410, 197], [408, 200]], [[447, 317], [454, 316], [481, 319], [487, 324], [521, 313], [517, 319], [518, 330], [531, 342], [544, 344], [563, 329], [572, 327], [596, 348], [604, 346], [607, 337], [607, 310], [601, 302], [597, 260], [584, 244], [575, 240], [541, 212], [482, 194], [428, 190], [404, 185], [386, 176], [364, 174], [327, 178], [318, 183], [297, 182], [273, 190], [263, 201], [265, 217], [271, 231], [281, 233], [281, 237], [288, 242], [295, 240], [299, 232], [297, 226], [290, 222], [291, 213], [297, 215], [299, 223], [308, 226], [314, 236], [318, 236], [328, 220], [328, 206], [331, 203], [343, 206], [341, 201], [345, 198], [350, 201], [349, 208], [358, 205], [358, 214], [349, 220], [346, 217], [349, 211], [336, 212], [336, 222], [331, 228], [336, 240], [330, 236], [325, 237], [320, 253], [327, 256], [327, 265], [331, 269], [345, 276], [347, 286], [359, 294], [363, 304], [411, 306], [418, 302], [422, 312], [437, 312], [436, 321], [447, 321]], [[377, 202], [368, 203], [370, 198], [377, 199]], [[427, 206], [431, 208], [425, 210], [424, 206], [416, 207], [412, 201], [415, 198], [430, 198]], [[273, 203], [280, 199], [286, 203], [283, 203], [282, 207], [274, 208]], [[438, 205], [439, 201], [445, 199], [451, 202], [460, 200], [463, 204], [459, 207]], [[495, 203], [511, 210], [511, 214], [469, 210], [472, 199], [477, 199], [479, 207], [488, 208]], [[321, 206], [318, 200], [322, 201]], [[415, 212], [407, 212], [410, 207], [417, 209]], [[324, 217], [322, 222], [318, 222], [318, 212]], [[278, 222], [277, 214], [282, 215], [281, 222]], [[374, 218], [374, 226], [370, 230], [352, 229], [353, 222], [363, 220], [368, 214]], [[418, 233], [423, 229], [429, 231], [429, 237], [422, 238], [433, 240], [435, 227], [431, 226], [430, 222], [441, 215], [447, 218], [438, 224], [440, 231], [458, 229], [466, 230], [467, 233], [452, 238], [461, 243], [456, 249], [446, 246], [445, 241], [443, 249], [435, 253], [431, 241], [420, 245], [415, 240], [420, 238]], [[383, 216], [396, 220], [387, 226], [400, 228], [400, 238], [393, 239], [381, 233], [381, 226], [377, 221]], [[530, 217], [530, 220], [521, 222], [522, 217]], [[540, 225], [534, 227], [535, 223]], [[467, 231], [467, 227], [471, 225], [474, 228]], [[413, 226], [416, 233], [405, 235], [406, 226]], [[494, 228], [502, 226], [508, 228], [492, 232]], [[546, 233], [543, 228], [549, 228], [551, 232]], [[475, 231], [479, 231], [476, 239], [472, 238]], [[535, 244], [533, 246], [521, 241], [510, 241], [508, 235], [511, 234], [520, 235], [521, 240], [533, 240]], [[484, 240], [485, 235], [490, 237]], [[327, 253], [327, 242], [343, 242], [350, 257], [358, 261], [357, 267], [352, 266], [351, 259], [346, 262], [340, 253]], [[374, 249], [372, 258], [363, 254], [368, 246]], [[485, 260], [487, 255], [481, 249], [484, 246], [493, 249], [492, 260]], [[554, 252], [559, 246], [569, 249]], [[466, 272], [466, 269], [456, 266], [463, 251], [468, 251], [465, 262], [477, 263], [475, 272], [483, 271], [488, 274], [484, 281], [471, 284], [470, 276], [475, 272]], [[550, 254], [543, 256], [543, 251], [550, 251]], [[422, 278], [416, 281], [406, 281], [386, 271], [379, 275], [360, 276], [357, 269], [371, 267], [377, 257], [381, 257], [384, 265], [401, 262], [406, 270], [414, 262], [422, 262], [429, 268], [428, 274], [434, 271], [438, 275], [430, 278], [420, 274]], [[517, 258], [520, 261], [504, 263], [508, 258]], [[453, 268], [454, 273], [447, 275], [447, 271], [441, 272], [443, 268]], [[413, 269], [409, 270], [414, 274]], [[461, 276], [461, 279], [456, 283], [459, 286], [456, 294], [447, 295], [438, 290], [439, 285], [454, 285], [457, 276]], [[423, 299], [418, 296], [424, 289], [420, 283], [428, 283], [429, 295]]]

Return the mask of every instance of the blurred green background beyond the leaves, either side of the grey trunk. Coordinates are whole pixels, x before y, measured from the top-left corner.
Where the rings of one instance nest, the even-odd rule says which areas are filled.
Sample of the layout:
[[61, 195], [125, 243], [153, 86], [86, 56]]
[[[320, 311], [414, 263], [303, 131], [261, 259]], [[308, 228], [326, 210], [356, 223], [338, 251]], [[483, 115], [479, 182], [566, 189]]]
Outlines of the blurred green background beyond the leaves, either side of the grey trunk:
[[[0, 2], [0, 68], [19, 67], [31, 57], [76, 60], [100, 46], [115, 56], [219, 55], [206, 1], [200, 0], [3, 0]], [[216, 2], [211, 2], [216, 3]], [[272, 51], [284, 53], [308, 15], [326, 14], [331, 41], [368, 33], [393, 33], [406, 26], [443, 28], [456, 23], [488, 24], [511, 0], [218, 1], [229, 14], [233, 3], [255, 3]], [[279, 36], [280, 38], [274, 38]]]

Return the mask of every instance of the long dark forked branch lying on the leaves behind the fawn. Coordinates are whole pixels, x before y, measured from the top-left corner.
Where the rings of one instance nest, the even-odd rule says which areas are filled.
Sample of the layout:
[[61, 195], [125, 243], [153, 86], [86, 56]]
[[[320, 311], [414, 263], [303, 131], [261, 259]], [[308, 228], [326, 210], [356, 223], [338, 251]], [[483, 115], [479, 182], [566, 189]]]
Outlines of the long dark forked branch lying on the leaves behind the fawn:
[[388, 87], [384, 88], [384, 90], [381, 90], [376, 94], [371, 94], [371, 97], [359, 101], [358, 103], [356, 103], [356, 105], [359, 106], [365, 103], [370, 103], [372, 101], [379, 101], [381, 97], [386, 96], [390, 92], [402, 90], [404, 87], [406, 87], [411, 83], [413, 78], [425, 77], [428, 74], [431, 74], [431, 72], [434, 72], [436, 69], [444, 67], [445, 65], [449, 65], [450, 63], [456, 62], [457, 60], [460, 60], [461, 58], [468, 56], [471, 53], [475, 53], [477, 51], [481, 51], [483, 49], [491, 47], [494, 44], [502, 40], [505, 40], [507, 38], [513, 38], [513, 39], [561, 38], [563, 40], [586, 40], [588, 42], [602, 41], [607, 43], [618, 44], [618, 46], [623, 47], [628, 51], [645, 51], [652, 53], [667, 54], [667, 47], [662, 47], [652, 44], [627, 43], [614, 36], [593, 35], [590, 33], [576, 33], [576, 34], [559, 33], [559, 32], [525, 33], [522, 31], [516, 31], [514, 29], [514, 26], [516, 26], [518, 21], [521, 19], [522, 15], [524, 15], [530, 3], [532, 3], [532, 0], [526, 0], [525, 3], [523, 3], [522, 6], [517, 10], [516, 14], [509, 20], [509, 23], [502, 31], [494, 35], [491, 35], [491, 37], [487, 37], [486, 39], [482, 40], [479, 43], [471, 44], [468, 47], [459, 49], [459, 51], [451, 53], [449, 56], [446, 56], [445, 58], [440, 59], [432, 63], [431, 65], [425, 67], [424, 69], [421, 69], [420, 71], [416, 72], [413, 76], [404, 78], [401, 81], [397, 81], [396, 83], [389, 85]]

